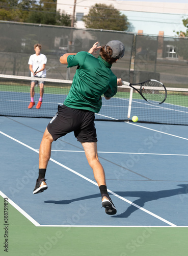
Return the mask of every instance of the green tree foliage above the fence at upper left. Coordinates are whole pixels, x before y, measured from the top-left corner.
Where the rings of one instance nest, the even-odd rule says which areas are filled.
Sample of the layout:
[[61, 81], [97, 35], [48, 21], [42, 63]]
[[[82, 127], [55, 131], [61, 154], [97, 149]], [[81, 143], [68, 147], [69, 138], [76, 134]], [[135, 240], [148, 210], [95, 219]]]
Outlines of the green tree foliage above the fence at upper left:
[[2, 0], [0, 20], [57, 26], [71, 26], [65, 12], [56, 11], [56, 0]]

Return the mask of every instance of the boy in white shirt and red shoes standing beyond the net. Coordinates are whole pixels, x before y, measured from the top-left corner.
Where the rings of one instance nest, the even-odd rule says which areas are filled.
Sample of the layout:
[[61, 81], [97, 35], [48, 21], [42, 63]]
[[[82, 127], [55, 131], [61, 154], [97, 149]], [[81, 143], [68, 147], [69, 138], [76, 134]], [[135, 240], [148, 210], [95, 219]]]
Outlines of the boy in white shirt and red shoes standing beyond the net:
[[[36, 44], [34, 45], [34, 50], [35, 54], [30, 56], [28, 64], [30, 65], [30, 71], [31, 71], [31, 76], [32, 77], [46, 77], [46, 62], [47, 58], [44, 54], [40, 53], [41, 51], [41, 45]], [[31, 82], [31, 102], [28, 106], [28, 109], [32, 109], [33, 106], [35, 105], [34, 101], [34, 95], [35, 95], [35, 84], [38, 84], [40, 86], [40, 98], [37, 103], [36, 109], [40, 109], [41, 104], [42, 104], [42, 97], [44, 93], [44, 81], [32, 81]]]

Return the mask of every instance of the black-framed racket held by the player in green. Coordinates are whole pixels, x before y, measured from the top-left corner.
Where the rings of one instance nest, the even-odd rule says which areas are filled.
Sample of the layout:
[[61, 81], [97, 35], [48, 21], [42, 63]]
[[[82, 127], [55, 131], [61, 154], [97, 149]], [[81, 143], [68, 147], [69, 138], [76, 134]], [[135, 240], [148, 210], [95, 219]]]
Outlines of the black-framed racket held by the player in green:
[[158, 105], [167, 98], [167, 89], [162, 82], [151, 79], [141, 83], [129, 83], [122, 81], [125, 86], [135, 89], [147, 102]]

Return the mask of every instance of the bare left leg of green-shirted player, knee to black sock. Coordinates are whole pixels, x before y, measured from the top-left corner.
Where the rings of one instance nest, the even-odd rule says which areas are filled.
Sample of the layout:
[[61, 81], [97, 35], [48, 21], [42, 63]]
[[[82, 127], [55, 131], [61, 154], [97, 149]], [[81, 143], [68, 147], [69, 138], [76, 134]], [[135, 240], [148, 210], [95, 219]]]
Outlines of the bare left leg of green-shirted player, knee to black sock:
[[47, 128], [44, 132], [42, 141], [40, 143], [40, 149], [39, 149], [39, 169], [46, 169], [48, 161], [50, 159], [51, 155], [51, 143], [53, 141], [53, 138], [51, 134], [48, 132]]

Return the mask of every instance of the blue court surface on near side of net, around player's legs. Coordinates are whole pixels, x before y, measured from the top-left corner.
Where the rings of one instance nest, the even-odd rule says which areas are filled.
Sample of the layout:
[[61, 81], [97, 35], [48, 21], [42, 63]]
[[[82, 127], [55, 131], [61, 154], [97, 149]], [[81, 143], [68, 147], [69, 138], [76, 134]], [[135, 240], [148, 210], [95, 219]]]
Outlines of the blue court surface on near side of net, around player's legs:
[[95, 121], [117, 214], [108, 216], [73, 133], [52, 143], [48, 189], [33, 195], [50, 119], [0, 117], [1, 191], [38, 225], [188, 226], [187, 126]]

